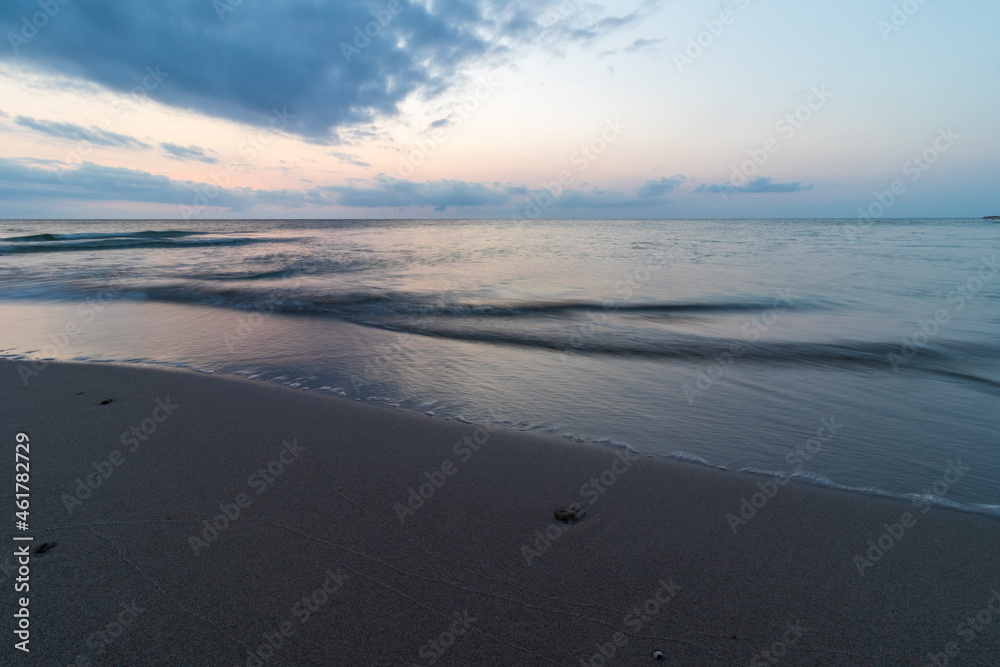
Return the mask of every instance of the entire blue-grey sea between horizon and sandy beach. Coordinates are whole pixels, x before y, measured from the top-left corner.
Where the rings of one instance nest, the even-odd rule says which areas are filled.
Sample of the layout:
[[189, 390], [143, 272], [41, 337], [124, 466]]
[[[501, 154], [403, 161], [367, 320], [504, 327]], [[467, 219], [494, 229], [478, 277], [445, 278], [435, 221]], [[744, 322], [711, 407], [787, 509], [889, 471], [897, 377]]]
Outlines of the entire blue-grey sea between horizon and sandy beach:
[[998, 247], [971, 219], [0, 221], [0, 356], [1000, 516]]

